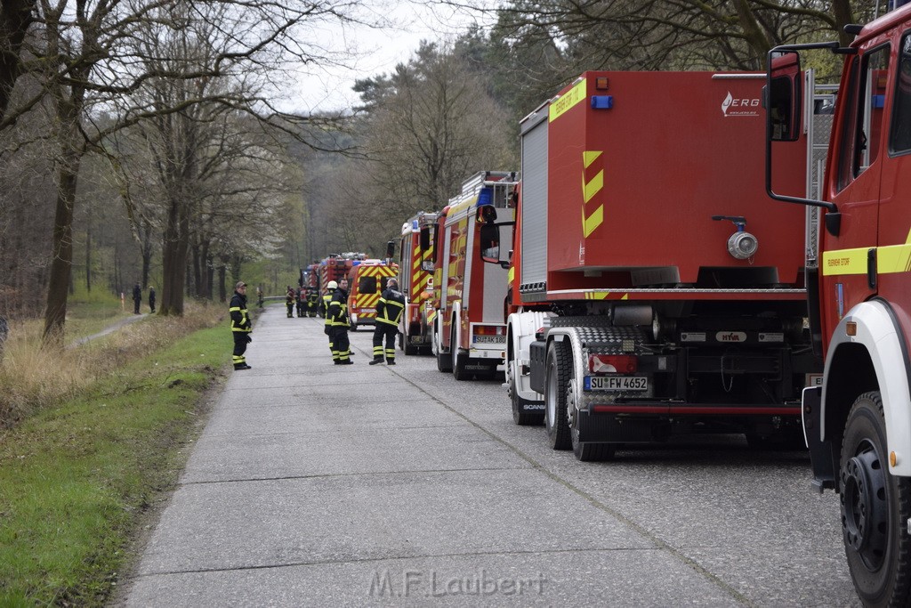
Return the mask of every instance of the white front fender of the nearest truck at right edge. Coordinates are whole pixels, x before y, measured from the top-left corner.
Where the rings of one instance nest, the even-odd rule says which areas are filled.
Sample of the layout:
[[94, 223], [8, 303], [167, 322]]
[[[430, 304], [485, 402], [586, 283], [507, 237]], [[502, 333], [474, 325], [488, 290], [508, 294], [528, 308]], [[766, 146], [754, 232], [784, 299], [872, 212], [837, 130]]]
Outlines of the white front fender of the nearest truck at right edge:
[[[848, 335], [846, 325], [856, 324], [855, 335]], [[893, 475], [911, 477], [911, 389], [908, 386], [908, 369], [903, 336], [896, 319], [881, 300], [856, 304], [835, 327], [828, 355], [825, 358], [824, 378], [829, 377], [838, 346], [863, 345], [873, 362], [879, 392], [883, 398], [885, 437], [888, 451], [895, 452]], [[826, 392], [824, 381], [821, 416], [825, 419]], [[824, 434], [825, 425], [820, 433]], [[824, 438], [824, 437], [823, 437]], [[824, 438], [825, 439], [825, 438]]]

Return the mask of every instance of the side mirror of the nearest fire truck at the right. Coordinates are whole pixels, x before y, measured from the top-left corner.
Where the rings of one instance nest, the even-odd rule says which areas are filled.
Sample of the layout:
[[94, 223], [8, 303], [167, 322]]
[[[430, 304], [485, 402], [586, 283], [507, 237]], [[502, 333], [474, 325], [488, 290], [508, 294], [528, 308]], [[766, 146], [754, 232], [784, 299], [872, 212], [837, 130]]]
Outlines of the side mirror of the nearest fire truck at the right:
[[765, 87], [766, 132], [773, 141], [800, 139], [802, 108], [800, 55], [783, 51], [772, 59], [769, 84]]

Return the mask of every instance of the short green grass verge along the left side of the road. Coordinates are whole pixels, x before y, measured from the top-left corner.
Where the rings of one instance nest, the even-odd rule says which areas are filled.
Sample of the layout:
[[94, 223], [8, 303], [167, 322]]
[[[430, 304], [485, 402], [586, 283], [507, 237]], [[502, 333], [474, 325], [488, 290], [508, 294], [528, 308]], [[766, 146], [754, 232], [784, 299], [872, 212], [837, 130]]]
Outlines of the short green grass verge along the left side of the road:
[[0, 605], [105, 602], [229, 359], [224, 324], [203, 329], [0, 435]]

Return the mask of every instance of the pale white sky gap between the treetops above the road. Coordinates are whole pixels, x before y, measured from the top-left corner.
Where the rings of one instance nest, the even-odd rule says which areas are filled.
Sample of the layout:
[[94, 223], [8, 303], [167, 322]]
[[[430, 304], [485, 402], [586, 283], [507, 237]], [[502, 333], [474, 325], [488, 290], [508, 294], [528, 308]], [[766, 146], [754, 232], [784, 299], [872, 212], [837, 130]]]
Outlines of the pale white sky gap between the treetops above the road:
[[313, 32], [326, 52], [350, 55], [344, 61], [347, 66], [302, 67], [296, 85], [282, 91], [281, 109], [336, 111], [359, 105], [360, 97], [352, 90], [356, 79], [389, 74], [415, 54], [421, 40], [451, 41], [479, 18], [451, 6], [428, 5], [426, 0], [373, 0], [365, 11], [364, 21], [383, 20], [384, 26], [333, 26]]

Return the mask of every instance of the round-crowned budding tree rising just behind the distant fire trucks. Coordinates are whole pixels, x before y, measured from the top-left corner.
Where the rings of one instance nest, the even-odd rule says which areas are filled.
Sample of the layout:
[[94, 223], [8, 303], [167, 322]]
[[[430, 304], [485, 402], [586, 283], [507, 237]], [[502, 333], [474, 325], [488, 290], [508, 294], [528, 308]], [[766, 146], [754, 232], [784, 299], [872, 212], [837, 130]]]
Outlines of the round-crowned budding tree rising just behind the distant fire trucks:
[[516, 170], [514, 127], [488, 88], [451, 48], [431, 44], [374, 81], [363, 125], [369, 160], [358, 165], [363, 179], [346, 180], [364, 184], [348, 194], [356, 210], [350, 217], [384, 226], [384, 242], [408, 215], [442, 208], [469, 175]]

